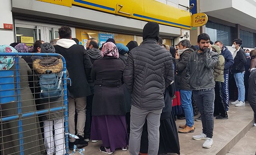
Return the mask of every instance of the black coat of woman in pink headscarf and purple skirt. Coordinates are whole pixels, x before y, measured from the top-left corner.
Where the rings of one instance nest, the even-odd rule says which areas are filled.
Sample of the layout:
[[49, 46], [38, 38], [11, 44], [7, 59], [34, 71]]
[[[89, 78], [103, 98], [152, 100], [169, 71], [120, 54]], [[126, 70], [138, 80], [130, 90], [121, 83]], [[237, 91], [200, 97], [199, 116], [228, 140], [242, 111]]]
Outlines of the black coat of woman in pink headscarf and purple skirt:
[[122, 75], [124, 63], [105, 56], [94, 61], [91, 78], [95, 83], [92, 115], [125, 115]]

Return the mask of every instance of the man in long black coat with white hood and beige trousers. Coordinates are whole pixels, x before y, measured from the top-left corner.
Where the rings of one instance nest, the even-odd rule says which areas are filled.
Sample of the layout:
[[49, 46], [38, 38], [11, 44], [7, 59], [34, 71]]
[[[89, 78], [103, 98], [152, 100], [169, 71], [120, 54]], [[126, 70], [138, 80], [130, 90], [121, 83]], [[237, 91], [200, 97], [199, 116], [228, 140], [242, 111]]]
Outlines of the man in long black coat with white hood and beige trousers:
[[88, 145], [84, 141], [84, 125], [86, 121], [86, 96], [91, 95], [88, 79], [92, 70], [92, 63], [84, 49], [77, 45], [71, 37], [68, 26], [59, 28], [60, 40], [54, 46], [56, 53], [61, 54], [67, 64], [67, 70], [72, 82], [68, 85], [68, 132], [75, 134], [75, 111], [77, 112], [77, 135], [80, 139], [69, 137], [69, 149], [73, 150], [74, 144], [78, 147]]

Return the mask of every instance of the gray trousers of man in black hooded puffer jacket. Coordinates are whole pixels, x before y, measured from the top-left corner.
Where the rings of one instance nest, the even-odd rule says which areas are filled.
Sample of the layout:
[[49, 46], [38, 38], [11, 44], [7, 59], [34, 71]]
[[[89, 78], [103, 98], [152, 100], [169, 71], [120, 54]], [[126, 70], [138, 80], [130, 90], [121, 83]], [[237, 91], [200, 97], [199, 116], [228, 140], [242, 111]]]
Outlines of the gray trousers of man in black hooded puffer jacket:
[[145, 110], [132, 105], [129, 141], [130, 155], [138, 155], [140, 152], [140, 139], [146, 119], [148, 124], [148, 155], [158, 154], [161, 113], [162, 109]]

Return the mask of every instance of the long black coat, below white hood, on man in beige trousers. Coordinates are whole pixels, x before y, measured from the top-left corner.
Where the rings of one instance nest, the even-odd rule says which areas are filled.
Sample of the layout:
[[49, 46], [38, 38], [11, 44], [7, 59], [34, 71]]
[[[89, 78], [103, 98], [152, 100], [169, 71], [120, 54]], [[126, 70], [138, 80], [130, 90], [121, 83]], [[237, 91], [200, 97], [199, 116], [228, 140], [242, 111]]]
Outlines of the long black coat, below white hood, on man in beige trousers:
[[56, 53], [61, 54], [66, 60], [72, 82], [72, 86], [68, 85], [69, 96], [78, 98], [91, 95], [88, 79], [90, 79], [92, 63], [84, 46], [75, 44], [70, 48], [64, 48], [56, 45], [54, 48]]

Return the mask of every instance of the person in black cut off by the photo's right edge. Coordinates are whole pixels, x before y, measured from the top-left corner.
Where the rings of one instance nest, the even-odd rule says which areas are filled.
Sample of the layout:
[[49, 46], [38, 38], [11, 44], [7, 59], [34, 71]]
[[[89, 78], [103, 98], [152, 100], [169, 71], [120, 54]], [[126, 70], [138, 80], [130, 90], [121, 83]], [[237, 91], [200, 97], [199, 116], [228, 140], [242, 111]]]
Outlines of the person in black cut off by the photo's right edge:
[[248, 80], [248, 101], [254, 112], [254, 126], [256, 127], [256, 50], [250, 52], [251, 63], [250, 63], [250, 77]]

